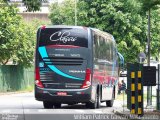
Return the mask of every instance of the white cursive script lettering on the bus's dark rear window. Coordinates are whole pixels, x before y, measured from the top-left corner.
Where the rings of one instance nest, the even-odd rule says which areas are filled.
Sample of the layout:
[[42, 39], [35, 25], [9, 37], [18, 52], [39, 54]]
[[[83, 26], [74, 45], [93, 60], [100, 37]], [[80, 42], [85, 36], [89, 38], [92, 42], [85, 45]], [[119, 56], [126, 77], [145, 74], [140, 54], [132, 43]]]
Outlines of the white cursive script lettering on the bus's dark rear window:
[[[77, 40], [77, 37], [71, 37], [69, 31], [65, 32], [55, 32], [50, 36], [51, 41], [62, 41], [63, 43], [67, 42], [75, 42]], [[56, 38], [56, 39], [55, 39]]]

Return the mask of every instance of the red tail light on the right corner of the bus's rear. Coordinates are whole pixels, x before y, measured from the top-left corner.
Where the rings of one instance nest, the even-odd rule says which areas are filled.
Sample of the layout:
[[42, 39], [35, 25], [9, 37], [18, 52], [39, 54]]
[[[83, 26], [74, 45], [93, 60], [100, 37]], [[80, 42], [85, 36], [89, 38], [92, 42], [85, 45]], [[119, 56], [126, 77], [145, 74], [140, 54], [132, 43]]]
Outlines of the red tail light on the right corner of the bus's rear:
[[89, 68], [86, 69], [86, 77], [81, 88], [88, 88], [91, 86], [91, 70]]

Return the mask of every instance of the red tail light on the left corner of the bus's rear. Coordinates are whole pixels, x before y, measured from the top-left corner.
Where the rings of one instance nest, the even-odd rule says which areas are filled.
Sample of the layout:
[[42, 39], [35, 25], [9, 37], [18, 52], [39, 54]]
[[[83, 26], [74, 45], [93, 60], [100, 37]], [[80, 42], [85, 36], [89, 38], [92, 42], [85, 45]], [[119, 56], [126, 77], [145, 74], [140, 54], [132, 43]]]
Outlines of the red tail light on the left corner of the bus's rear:
[[40, 88], [44, 88], [42, 82], [40, 81], [40, 74], [38, 67], [35, 70], [35, 84]]

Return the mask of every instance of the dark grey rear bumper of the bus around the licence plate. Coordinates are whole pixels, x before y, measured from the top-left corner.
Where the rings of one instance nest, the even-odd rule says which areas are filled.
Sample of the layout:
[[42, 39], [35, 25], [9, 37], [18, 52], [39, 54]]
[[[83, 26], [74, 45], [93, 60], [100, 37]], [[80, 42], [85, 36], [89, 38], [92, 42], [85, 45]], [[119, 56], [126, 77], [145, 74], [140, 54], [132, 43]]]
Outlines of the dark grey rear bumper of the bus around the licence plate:
[[[89, 89], [69, 90], [67, 96], [57, 96], [59, 90], [35, 88], [35, 98], [38, 101], [52, 101], [56, 103], [85, 103], [91, 100], [91, 92]], [[64, 91], [64, 90], [63, 90]], [[82, 94], [81, 94], [82, 93]]]

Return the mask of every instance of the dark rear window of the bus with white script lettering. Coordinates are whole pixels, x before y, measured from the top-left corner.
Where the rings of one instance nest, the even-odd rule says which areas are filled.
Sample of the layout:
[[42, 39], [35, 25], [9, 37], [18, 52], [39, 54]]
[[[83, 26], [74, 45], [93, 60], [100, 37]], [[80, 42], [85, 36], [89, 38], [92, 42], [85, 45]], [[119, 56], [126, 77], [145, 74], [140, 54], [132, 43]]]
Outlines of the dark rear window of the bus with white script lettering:
[[73, 45], [88, 47], [88, 31], [83, 28], [45, 28], [41, 29], [39, 46]]

